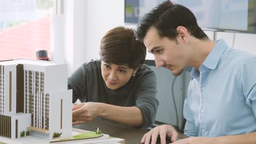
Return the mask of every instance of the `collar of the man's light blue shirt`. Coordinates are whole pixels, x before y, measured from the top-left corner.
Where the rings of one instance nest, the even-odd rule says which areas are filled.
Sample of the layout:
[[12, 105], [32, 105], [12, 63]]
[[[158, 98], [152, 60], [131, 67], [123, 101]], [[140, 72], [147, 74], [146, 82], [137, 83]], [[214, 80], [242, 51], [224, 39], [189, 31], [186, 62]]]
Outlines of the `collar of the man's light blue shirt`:
[[[222, 57], [223, 52], [227, 49], [228, 45], [225, 40], [220, 39], [215, 41], [216, 45], [213, 47], [212, 51], [206, 57], [205, 61], [202, 63], [208, 69], [215, 69], [218, 65], [220, 57]], [[202, 66], [201, 65], [201, 66]], [[200, 75], [199, 71], [193, 68], [191, 70], [191, 77], [195, 79]]]

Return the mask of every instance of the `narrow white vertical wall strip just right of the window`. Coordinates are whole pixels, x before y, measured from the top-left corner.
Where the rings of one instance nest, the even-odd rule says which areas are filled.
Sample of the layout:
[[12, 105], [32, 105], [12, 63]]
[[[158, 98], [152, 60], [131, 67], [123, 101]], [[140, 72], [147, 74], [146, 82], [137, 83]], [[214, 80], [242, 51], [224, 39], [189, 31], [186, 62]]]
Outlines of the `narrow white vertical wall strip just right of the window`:
[[86, 0], [64, 1], [65, 15], [65, 62], [68, 75], [84, 62]]

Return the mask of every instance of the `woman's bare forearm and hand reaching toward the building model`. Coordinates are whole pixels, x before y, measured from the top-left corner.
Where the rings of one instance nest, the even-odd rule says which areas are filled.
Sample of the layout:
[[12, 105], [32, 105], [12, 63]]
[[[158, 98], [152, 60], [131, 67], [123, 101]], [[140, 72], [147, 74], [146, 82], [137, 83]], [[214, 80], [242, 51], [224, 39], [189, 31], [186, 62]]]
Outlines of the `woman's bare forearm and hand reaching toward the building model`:
[[142, 112], [136, 106], [124, 107], [94, 102], [73, 106], [73, 125], [90, 122], [97, 116], [133, 127], [140, 127], [143, 123]]

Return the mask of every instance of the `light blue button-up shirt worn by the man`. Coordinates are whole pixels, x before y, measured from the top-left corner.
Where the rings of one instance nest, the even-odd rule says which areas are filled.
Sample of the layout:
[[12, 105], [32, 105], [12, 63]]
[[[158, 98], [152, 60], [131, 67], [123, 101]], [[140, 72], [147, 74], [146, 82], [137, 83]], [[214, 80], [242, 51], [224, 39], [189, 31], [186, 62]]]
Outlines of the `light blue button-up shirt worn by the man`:
[[191, 71], [184, 118], [187, 136], [256, 131], [256, 56], [218, 40], [200, 69]]

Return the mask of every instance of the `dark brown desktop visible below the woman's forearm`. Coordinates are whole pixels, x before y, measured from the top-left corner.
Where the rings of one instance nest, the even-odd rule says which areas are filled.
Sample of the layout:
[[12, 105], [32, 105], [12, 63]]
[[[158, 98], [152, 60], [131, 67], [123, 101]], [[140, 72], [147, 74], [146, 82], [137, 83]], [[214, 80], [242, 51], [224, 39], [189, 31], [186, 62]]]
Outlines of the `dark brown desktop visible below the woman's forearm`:
[[99, 118], [89, 123], [74, 125], [73, 128], [90, 131], [96, 131], [97, 128], [100, 128], [104, 134], [125, 139], [126, 144], [141, 143], [142, 136], [147, 133], [147, 130], [141, 130]]

